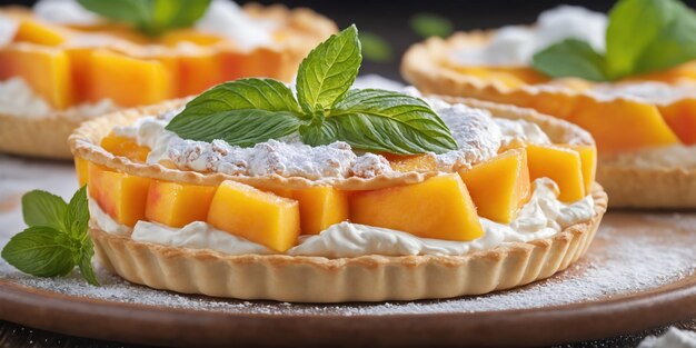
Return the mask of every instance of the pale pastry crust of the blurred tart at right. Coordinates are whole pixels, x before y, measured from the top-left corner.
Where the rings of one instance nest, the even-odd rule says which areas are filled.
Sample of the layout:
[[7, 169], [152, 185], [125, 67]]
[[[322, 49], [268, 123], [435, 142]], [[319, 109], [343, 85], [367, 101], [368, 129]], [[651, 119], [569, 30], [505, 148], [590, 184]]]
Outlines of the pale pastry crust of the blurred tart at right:
[[[404, 56], [401, 72], [426, 93], [465, 96], [494, 102], [506, 102], [513, 93], [536, 96], [546, 92], [534, 86], [509, 88], [500, 81], [466, 76], [448, 68], [453, 49], [488, 42], [494, 31], [456, 33], [443, 40], [430, 38], [412, 46]], [[556, 93], [574, 93], [568, 88], [554, 88]], [[632, 101], [616, 98], [616, 100]], [[696, 208], [696, 169], [662, 167], [634, 168], [612, 163], [599, 156], [597, 181], [612, 197], [615, 208]]]

